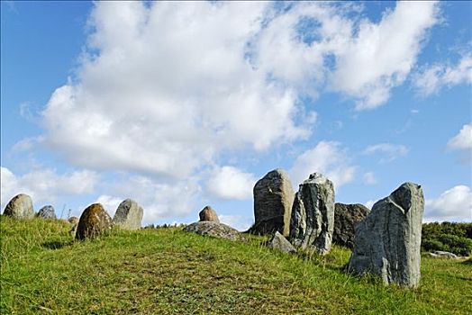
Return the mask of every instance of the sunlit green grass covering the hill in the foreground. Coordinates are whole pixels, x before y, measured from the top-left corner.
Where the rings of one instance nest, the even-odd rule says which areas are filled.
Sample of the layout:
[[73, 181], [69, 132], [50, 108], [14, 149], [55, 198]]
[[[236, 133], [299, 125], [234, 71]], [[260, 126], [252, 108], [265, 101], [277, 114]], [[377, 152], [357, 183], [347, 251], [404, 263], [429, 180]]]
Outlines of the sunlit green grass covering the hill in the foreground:
[[345, 274], [350, 252], [303, 257], [180, 229], [75, 242], [59, 220], [2, 217], [2, 314], [471, 314], [470, 262], [422, 258], [416, 290]]

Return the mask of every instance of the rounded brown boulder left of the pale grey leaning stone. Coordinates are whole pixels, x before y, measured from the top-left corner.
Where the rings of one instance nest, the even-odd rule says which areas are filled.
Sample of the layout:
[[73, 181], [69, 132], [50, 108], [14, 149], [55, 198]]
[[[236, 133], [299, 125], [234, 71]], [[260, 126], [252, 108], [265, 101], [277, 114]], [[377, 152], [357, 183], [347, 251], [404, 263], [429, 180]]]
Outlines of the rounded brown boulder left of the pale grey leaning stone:
[[112, 227], [112, 218], [104, 211], [104, 207], [100, 203], [94, 203], [82, 212], [77, 224], [76, 238], [96, 238]]

